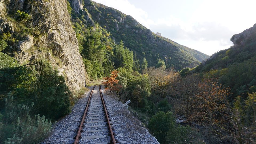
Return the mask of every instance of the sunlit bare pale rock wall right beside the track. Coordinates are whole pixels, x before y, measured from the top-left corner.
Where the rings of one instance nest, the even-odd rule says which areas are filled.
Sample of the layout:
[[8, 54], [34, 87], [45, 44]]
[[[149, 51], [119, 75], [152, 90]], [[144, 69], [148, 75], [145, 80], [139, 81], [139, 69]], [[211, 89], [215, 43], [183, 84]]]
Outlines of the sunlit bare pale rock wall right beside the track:
[[78, 50], [78, 41], [72, 29], [70, 16], [67, 12], [66, 0], [51, 0], [50, 6], [51, 14], [63, 18], [65, 25], [55, 27], [55, 29], [61, 29], [62, 31], [49, 30], [45, 42], [54, 44], [59, 51], [62, 51], [59, 58], [63, 62], [63, 66], [59, 67], [58, 70], [60, 74], [64, 74], [67, 85], [71, 89], [80, 89], [85, 86], [88, 77], [82, 56]]

